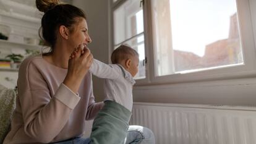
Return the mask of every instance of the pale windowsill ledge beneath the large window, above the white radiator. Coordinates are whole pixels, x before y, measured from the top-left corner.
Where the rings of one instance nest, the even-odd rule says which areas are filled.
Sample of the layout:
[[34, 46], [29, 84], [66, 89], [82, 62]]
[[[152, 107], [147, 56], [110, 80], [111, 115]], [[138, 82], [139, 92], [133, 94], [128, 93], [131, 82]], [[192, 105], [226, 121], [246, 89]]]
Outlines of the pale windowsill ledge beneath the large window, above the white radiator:
[[134, 102], [255, 105], [256, 77], [136, 85]]

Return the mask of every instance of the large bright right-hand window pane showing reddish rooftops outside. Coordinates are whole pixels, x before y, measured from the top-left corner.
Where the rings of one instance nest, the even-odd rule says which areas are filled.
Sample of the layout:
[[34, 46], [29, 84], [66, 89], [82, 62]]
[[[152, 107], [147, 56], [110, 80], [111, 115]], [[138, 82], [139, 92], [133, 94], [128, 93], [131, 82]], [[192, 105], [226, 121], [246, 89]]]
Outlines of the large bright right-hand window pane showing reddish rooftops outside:
[[236, 0], [151, 1], [156, 75], [243, 64]]

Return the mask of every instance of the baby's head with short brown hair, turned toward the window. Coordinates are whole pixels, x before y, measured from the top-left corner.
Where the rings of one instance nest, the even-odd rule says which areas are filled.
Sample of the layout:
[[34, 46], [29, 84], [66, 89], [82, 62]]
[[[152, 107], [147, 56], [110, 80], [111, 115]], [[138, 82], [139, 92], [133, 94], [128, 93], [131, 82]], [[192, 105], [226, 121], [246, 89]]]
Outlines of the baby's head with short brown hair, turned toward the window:
[[112, 64], [121, 64], [132, 77], [138, 72], [139, 54], [127, 45], [121, 45], [111, 54]]

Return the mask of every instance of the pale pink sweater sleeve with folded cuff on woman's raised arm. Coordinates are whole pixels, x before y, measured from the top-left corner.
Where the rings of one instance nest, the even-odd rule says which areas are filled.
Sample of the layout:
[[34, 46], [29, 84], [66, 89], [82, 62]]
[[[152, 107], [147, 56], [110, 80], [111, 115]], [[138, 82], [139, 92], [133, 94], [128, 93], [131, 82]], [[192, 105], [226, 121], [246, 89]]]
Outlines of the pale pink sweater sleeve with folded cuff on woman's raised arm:
[[69, 120], [79, 96], [64, 84], [51, 96], [48, 83], [29, 61], [20, 66], [17, 84], [25, 133], [40, 143], [51, 142]]

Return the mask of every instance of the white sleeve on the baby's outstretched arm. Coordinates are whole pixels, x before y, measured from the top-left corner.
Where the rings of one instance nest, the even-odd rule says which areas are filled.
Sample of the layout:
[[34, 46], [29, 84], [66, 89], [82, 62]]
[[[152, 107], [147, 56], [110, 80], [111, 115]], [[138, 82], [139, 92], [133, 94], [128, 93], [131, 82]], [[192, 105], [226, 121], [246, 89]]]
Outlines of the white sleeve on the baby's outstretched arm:
[[90, 72], [99, 78], [116, 79], [121, 74], [121, 69], [115, 64], [105, 64], [97, 59], [93, 59], [93, 64], [90, 67]]

